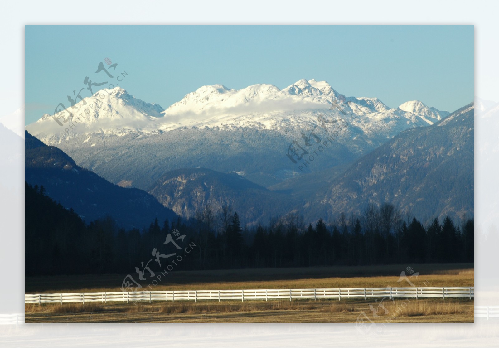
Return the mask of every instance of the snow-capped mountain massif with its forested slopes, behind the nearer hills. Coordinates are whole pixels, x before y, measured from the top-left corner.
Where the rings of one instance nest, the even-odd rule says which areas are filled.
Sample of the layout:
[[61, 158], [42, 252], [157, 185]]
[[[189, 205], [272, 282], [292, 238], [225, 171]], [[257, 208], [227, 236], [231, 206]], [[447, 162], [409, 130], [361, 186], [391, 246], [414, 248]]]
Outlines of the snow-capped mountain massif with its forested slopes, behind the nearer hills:
[[[282, 90], [203, 86], [166, 110], [122, 88], [104, 89], [26, 129], [113, 183], [149, 190], [166, 172], [201, 167], [244, 173], [267, 187], [348, 164], [447, 114], [421, 102], [390, 108], [378, 98], [345, 97], [326, 81], [301, 79]], [[289, 155], [293, 144], [317, 160], [298, 163]]]

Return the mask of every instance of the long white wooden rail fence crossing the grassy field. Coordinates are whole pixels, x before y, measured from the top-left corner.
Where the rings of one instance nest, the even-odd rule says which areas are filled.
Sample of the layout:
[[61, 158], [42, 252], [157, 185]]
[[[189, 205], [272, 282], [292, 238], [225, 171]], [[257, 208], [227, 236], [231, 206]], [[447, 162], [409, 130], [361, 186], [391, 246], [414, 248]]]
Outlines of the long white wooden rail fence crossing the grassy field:
[[175, 290], [134, 291], [103, 293], [25, 294], [24, 303], [70, 303], [70, 302], [149, 302], [198, 300], [297, 300], [297, 299], [341, 299], [345, 298], [427, 298], [475, 297], [474, 287], [444, 288], [350, 288], [350, 289], [258, 289], [258, 290]]

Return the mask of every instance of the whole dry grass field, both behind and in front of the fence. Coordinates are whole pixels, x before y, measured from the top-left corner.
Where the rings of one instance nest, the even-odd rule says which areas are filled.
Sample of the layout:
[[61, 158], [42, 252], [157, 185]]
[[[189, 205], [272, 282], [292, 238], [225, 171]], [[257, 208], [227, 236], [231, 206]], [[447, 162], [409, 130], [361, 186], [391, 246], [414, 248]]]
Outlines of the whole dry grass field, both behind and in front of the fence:
[[[409, 287], [403, 265], [174, 271], [152, 291]], [[411, 265], [418, 287], [474, 286], [473, 264]], [[406, 272], [407, 273], [407, 272]], [[121, 291], [125, 275], [26, 277], [26, 293]], [[147, 285], [146, 285], [147, 286]], [[145, 286], [145, 287], [146, 287]], [[473, 323], [469, 299], [342, 299], [26, 304], [26, 323]]]

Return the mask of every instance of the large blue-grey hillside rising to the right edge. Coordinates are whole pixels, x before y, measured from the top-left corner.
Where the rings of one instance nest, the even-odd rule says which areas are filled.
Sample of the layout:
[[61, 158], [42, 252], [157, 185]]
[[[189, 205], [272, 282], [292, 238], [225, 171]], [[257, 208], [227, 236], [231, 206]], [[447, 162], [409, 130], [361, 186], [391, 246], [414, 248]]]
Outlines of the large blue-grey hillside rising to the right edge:
[[473, 216], [474, 111], [467, 105], [362, 157], [313, 194], [305, 218], [362, 212], [367, 203], [384, 201], [423, 218]]

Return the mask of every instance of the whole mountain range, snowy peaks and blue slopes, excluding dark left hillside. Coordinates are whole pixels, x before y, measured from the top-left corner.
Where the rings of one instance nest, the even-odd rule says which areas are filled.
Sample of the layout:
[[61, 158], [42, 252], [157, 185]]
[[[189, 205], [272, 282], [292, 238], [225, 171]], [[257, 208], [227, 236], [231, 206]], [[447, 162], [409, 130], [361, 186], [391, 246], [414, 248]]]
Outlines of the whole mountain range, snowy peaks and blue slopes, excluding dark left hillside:
[[[282, 90], [203, 86], [167, 109], [116, 87], [26, 129], [78, 166], [143, 189], [185, 217], [208, 202], [230, 202], [246, 223], [291, 211], [313, 221], [385, 200], [440, 216], [473, 214], [474, 108], [467, 108], [452, 123], [456, 112], [417, 100], [390, 108], [313, 79]], [[464, 161], [461, 176], [452, 160]], [[438, 187], [449, 189], [440, 197], [446, 203], [430, 202]]]

